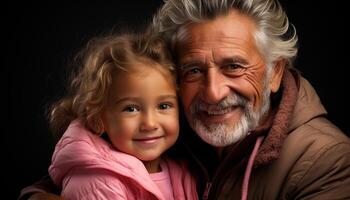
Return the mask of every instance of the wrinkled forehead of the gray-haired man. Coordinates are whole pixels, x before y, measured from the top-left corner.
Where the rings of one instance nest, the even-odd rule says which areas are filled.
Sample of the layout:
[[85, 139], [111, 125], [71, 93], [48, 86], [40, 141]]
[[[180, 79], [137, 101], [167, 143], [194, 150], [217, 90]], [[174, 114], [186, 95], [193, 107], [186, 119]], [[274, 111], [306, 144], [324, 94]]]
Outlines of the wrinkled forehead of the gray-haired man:
[[[239, 12], [232, 11], [226, 16], [214, 20], [193, 23], [178, 31], [176, 53], [178, 57], [198, 49], [228, 49], [254, 48], [254, 21]], [[221, 50], [220, 50], [221, 49]]]

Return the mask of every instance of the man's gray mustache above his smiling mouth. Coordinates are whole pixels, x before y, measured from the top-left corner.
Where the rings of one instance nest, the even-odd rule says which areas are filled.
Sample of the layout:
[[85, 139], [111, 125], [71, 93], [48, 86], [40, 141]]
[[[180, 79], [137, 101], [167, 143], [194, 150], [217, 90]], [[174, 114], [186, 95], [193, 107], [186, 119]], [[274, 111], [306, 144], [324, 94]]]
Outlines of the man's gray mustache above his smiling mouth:
[[233, 106], [240, 106], [246, 108], [248, 106], [248, 100], [237, 94], [230, 93], [227, 97], [222, 99], [217, 104], [208, 104], [200, 99], [196, 99], [190, 106], [190, 111], [192, 114], [201, 112], [201, 111], [220, 111], [229, 109]]

